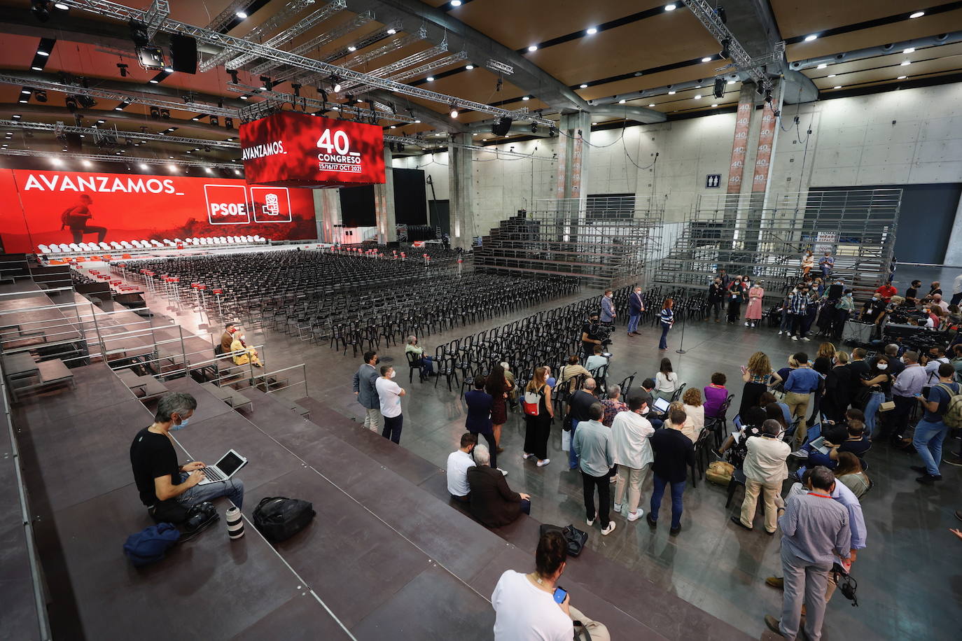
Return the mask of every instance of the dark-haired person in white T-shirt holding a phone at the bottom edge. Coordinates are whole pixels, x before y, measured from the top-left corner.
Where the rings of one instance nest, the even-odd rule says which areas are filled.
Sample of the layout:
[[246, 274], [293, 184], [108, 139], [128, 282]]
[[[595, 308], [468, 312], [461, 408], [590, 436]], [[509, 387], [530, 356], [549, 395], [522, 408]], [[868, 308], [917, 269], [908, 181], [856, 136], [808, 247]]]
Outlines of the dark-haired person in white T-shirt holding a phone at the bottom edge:
[[554, 593], [567, 559], [565, 537], [560, 531], [548, 531], [538, 541], [534, 572], [507, 570], [497, 579], [491, 595], [494, 641], [571, 641], [573, 619], [589, 629], [593, 641], [610, 641], [608, 629], [571, 607], [568, 594], [556, 601]]

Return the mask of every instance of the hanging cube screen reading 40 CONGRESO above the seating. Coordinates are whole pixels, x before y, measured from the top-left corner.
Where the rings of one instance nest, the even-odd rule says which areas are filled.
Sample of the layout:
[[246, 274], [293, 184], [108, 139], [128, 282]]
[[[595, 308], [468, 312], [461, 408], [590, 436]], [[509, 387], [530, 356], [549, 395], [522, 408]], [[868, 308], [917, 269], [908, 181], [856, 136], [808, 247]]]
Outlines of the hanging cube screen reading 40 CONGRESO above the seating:
[[280, 111], [241, 125], [248, 183], [337, 187], [384, 183], [384, 132], [376, 125]]

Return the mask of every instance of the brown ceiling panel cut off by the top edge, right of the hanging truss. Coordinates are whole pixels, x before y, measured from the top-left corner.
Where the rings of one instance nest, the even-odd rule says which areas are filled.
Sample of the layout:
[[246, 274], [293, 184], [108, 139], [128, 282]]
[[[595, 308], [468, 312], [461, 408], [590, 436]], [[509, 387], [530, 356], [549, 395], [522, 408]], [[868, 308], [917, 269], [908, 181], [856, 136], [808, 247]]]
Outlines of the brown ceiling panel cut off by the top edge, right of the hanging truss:
[[[927, 6], [924, 0], [770, 0], [782, 37], [818, 34], [849, 24], [857, 24], [888, 15], [909, 13]], [[921, 19], [921, 18], [916, 18]]]

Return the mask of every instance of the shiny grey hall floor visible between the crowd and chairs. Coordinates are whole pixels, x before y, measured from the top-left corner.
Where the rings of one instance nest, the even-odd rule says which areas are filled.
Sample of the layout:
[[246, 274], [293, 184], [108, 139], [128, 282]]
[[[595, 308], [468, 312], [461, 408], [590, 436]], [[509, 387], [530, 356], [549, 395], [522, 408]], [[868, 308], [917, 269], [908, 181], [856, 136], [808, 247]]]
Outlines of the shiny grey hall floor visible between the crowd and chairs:
[[[907, 270], [906, 270], [907, 271]], [[902, 274], [899, 274], [902, 276]], [[917, 276], [925, 278], [924, 275]], [[899, 279], [897, 279], [899, 280]], [[950, 281], [949, 281], [950, 283]], [[926, 282], [927, 284], [927, 282]], [[903, 288], [898, 284], [899, 289]], [[588, 295], [590, 292], [528, 308], [516, 317], [539, 308], [554, 308]], [[189, 308], [169, 305], [162, 299], [150, 299], [153, 308], [174, 316], [191, 331], [204, 332], [209, 327], [206, 316]], [[423, 337], [421, 342], [433, 349], [441, 341], [474, 333], [506, 322], [478, 324], [456, 328], [441, 335]], [[219, 327], [214, 330], [219, 335]], [[572, 332], [576, 329], [572, 328]], [[649, 327], [642, 335], [627, 337], [619, 327], [612, 348], [615, 358], [610, 379], [620, 381], [638, 372], [636, 382], [652, 376], [663, 353], [657, 350], [658, 332]], [[247, 328], [248, 343], [265, 343], [267, 369], [273, 370], [305, 363], [310, 396], [321, 400], [351, 417], [361, 415], [354, 403], [351, 376], [360, 364], [334, 352], [326, 344], [313, 345], [296, 336]], [[702, 387], [713, 372], [728, 377], [728, 388], [736, 395], [738, 406], [742, 382], [739, 365], [755, 351], [766, 352], [778, 367], [798, 350], [815, 353], [818, 343], [797, 343], [777, 335], [775, 330], [715, 323], [696, 323], [685, 328], [685, 355], [678, 355], [682, 328], [670, 336], [667, 353], [683, 382]], [[398, 364], [398, 382], [409, 390], [404, 399], [404, 431], [401, 445], [412, 452], [444, 466], [447, 455], [457, 446], [464, 431], [465, 407], [457, 392], [448, 392], [442, 380], [437, 387], [430, 382], [408, 383], [403, 346], [382, 350]], [[291, 397], [302, 396], [291, 390]], [[561, 451], [561, 431], [556, 424], [550, 440], [551, 464], [537, 468], [520, 458], [523, 421], [511, 414], [504, 427], [502, 445], [506, 452], [499, 457], [500, 467], [509, 471], [508, 481], [515, 490], [533, 497], [531, 514], [544, 523], [573, 523], [585, 529], [581, 482], [568, 470], [566, 455]], [[957, 449], [958, 440], [947, 441]], [[943, 464], [944, 481], [934, 487], [914, 481], [918, 476], [908, 469], [918, 464], [915, 456], [894, 452], [878, 444], [869, 455], [870, 475], [875, 487], [863, 501], [868, 526], [868, 547], [853, 566], [858, 579], [859, 607], [836, 593], [828, 605], [824, 638], [841, 639], [957, 639], [962, 627], [962, 541], [949, 528], [962, 527], [952, 512], [962, 508], [959, 481], [962, 470]], [[647, 510], [651, 481], [643, 487], [642, 506]], [[739, 498], [741, 494], [739, 494]], [[691, 604], [708, 611], [731, 625], [760, 638], [773, 638], [766, 631], [763, 616], [778, 615], [781, 593], [765, 585], [765, 578], [780, 575], [778, 536], [770, 537], [759, 528], [745, 531], [729, 522], [740, 500], [725, 509], [725, 490], [708, 482], [699, 482], [685, 491], [685, 513], [682, 532], [669, 537], [665, 528], [649, 530], [644, 520], [627, 523], [623, 517], [618, 529], [607, 537], [588, 528], [588, 545], [636, 570]], [[667, 517], [670, 501], [663, 504]], [[760, 517], [759, 517], [760, 519]], [[760, 520], [759, 520], [760, 523]], [[579, 525], [580, 524], [580, 525]]]

